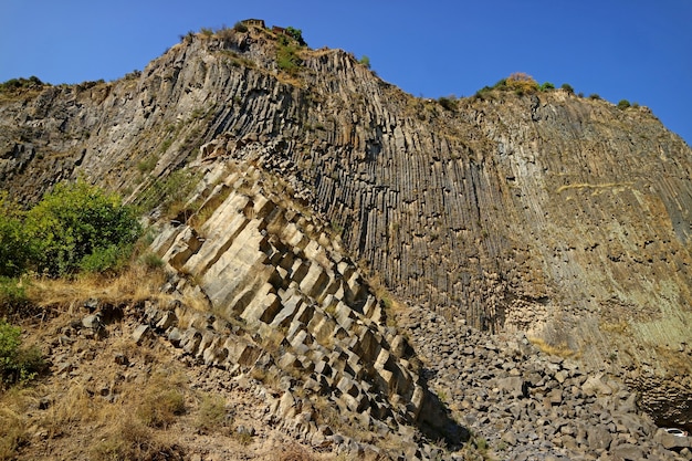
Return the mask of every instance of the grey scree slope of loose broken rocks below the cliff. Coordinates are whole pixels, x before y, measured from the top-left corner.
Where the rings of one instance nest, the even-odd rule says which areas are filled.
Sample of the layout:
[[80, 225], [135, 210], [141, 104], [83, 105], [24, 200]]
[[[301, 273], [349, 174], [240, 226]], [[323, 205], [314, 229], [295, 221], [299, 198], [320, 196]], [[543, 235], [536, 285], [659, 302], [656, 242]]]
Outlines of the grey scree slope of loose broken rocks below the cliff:
[[[588, 376], [524, 334], [484, 335], [418, 306], [399, 316], [423, 376], [491, 457], [508, 460], [678, 460], [690, 438], [658, 429], [622, 376]], [[459, 349], [457, 344], [464, 344]], [[608, 383], [608, 387], [594, 383]], [[494, 459], [494, 458], [491, 458]]]

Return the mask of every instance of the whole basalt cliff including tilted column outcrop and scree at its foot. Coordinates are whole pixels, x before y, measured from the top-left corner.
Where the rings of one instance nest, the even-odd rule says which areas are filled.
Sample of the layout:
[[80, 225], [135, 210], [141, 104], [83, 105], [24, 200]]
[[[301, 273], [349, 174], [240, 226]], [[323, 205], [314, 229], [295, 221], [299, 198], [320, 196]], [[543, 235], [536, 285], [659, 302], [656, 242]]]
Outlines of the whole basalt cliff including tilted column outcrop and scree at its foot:
[[189, 34], [118, 81], [1, 95], [0, 187], [140, 206], [180, 301], [132, 307], [137, 340], [275, 370], [272, 418], [314, 447], [689, 453], [653, 423], [692, 425], [690, 147], [565, 90], [447, 103], [281, 30]]

